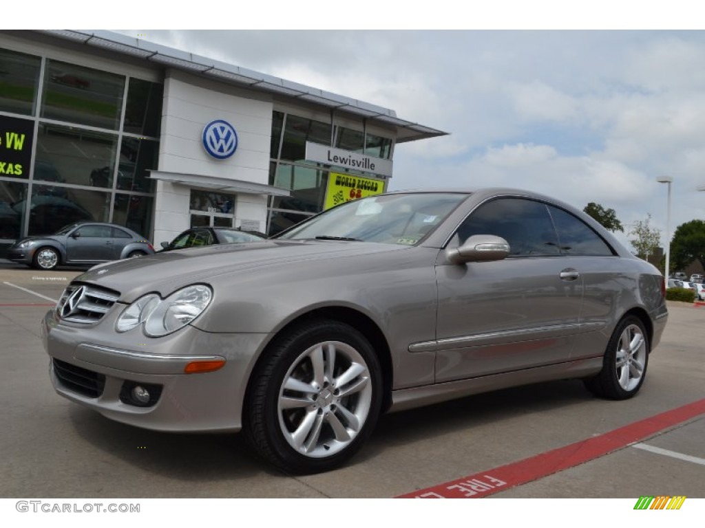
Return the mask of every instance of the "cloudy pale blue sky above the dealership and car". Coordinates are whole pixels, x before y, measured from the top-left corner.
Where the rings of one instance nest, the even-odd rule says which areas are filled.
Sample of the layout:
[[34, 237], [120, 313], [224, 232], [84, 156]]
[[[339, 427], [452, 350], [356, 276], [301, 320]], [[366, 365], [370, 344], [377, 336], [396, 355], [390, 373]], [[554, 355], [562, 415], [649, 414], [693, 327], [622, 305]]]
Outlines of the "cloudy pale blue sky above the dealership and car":
[[[398, 146], [391, 189], [508, 186], [705, 218], [705, 31], [120, 30], [392, 108], [449, 132]], [[626, 239], [626, 237], [623, 237]]]

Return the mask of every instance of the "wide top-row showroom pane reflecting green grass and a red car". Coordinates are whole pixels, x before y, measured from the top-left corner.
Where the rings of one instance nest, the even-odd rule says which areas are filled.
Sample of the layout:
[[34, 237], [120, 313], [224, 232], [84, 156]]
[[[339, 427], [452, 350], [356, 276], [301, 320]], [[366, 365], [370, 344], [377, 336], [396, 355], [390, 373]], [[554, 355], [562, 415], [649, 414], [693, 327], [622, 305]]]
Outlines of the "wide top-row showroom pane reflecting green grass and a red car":
[[41, 115], [117, 130], [124, 89], [123, 75], [47, 61]]

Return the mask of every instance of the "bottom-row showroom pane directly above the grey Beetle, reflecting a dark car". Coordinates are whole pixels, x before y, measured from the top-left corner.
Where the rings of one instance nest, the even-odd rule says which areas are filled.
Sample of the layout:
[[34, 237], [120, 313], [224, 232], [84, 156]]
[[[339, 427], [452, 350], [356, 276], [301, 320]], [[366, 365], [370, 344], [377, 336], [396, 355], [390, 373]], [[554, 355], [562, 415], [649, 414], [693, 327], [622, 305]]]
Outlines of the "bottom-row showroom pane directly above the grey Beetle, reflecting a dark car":
[[63, 189], [66, 190], [66, 195], [56, 196], [52, 189], [53, 187], [48, 185], [32, 186], [30, 235], [55, 233], [64, 225], [81, 220], [108, 221], [109, 193]]

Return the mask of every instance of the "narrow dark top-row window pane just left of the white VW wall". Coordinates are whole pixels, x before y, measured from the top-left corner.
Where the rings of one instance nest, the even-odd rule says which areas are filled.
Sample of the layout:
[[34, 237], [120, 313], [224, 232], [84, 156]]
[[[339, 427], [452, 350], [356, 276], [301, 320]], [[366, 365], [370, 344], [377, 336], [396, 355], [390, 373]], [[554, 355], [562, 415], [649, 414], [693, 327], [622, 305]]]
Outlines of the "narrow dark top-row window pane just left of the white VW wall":
[[157, 82], [130, 77], [123, 130], [143, 136], [159, 136], [164, 87]]

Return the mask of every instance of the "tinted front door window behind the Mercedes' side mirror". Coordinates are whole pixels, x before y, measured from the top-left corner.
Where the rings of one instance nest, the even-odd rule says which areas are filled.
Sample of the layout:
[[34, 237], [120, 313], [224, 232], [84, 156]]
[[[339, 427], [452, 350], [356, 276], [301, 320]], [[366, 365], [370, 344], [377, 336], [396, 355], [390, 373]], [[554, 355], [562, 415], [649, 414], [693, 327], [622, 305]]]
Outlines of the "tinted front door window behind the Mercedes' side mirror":
[[499, 199], [479, 206], [458, 228], [460, 243], [474, 234], [494, 234], [509, 242], [511, 256], [558, 255], [558, 237], [543, 203]]

